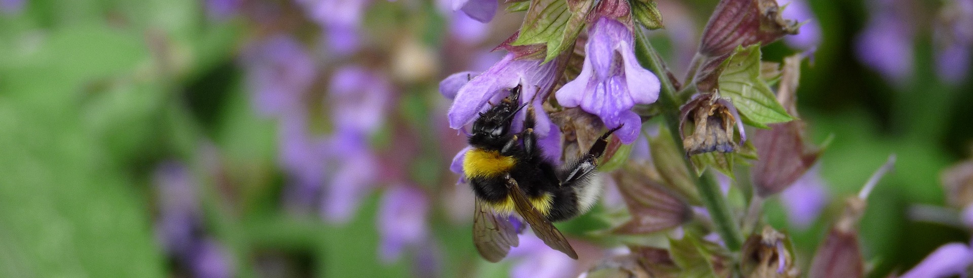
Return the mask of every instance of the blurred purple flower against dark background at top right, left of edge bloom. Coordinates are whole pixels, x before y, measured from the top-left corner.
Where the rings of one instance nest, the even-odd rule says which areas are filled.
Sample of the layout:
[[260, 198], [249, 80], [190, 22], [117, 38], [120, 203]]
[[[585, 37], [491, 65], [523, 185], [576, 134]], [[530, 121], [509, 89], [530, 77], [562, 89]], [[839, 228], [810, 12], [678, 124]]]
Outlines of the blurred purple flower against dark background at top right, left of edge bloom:
[[901, 86], [913, 74], [914, 30], [908, 15], [897, 9], [901, 0], [870, 1], [873, 11], [855, 49], [865, 65]]

